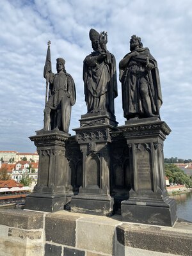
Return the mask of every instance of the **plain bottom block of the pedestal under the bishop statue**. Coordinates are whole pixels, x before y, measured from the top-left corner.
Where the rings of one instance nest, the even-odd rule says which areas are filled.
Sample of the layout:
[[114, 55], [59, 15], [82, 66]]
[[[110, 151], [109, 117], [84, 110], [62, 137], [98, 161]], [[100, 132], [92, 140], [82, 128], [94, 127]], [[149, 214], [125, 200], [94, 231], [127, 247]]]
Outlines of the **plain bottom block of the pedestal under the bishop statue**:
[[111, 216], [113, 214], [113, 198], [105, 195], [72, 196], [70, 211], [100, 216]]

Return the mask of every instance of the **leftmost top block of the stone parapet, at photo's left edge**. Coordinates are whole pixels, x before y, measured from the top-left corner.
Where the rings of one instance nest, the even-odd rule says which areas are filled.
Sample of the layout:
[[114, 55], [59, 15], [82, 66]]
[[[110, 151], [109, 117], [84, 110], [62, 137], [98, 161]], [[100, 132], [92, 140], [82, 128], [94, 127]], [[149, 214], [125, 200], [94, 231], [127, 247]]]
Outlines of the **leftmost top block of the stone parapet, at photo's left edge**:
[[0, 225], [24, 229], [43, 228], [42, 212], [24, 211], [21, 209], [0, 209]]

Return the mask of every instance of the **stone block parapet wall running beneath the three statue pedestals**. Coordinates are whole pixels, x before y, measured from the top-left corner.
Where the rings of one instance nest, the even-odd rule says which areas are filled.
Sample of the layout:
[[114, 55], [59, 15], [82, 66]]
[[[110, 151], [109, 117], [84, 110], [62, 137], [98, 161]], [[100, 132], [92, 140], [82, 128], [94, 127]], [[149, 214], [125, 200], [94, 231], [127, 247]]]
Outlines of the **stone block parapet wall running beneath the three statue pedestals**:
[[192, 255], [192, 223], [125, 223], [68, 211], [0, 209], [0, 256]]

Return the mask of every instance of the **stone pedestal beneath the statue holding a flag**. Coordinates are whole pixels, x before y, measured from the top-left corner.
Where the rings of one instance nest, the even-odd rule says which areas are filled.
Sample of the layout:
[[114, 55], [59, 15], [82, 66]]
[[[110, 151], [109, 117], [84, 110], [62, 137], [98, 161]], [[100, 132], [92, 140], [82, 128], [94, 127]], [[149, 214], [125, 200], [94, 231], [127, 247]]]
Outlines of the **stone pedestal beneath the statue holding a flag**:
[[31, 136], [39, 154], [38, 182], [26, 197], [25, 209], [55, 212], [66, 203], [67, 158], [65, 148], [70, 134], [61, 131], [37, 131]]

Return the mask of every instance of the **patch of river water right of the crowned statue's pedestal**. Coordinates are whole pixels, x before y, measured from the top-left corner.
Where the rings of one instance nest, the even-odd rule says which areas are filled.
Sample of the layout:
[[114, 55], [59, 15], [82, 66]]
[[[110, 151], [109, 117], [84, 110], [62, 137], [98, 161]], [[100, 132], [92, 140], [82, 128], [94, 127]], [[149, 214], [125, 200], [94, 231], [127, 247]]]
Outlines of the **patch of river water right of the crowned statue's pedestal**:
[[192, 192], [172, 195], [177, 203], [177, 217], [192, 222]]

